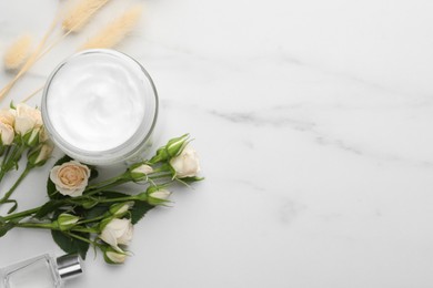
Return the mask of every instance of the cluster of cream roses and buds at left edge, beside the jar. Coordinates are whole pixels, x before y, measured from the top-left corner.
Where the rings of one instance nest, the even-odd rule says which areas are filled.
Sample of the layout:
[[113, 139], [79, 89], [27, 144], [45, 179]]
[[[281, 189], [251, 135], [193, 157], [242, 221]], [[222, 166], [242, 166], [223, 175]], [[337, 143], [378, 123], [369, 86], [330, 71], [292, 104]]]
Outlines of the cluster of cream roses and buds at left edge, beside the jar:
[[[0, 155], [2, 156], [0, 181], [8, 172], [18, 168], [18, 162], [24, 152], [28, 157], [26, 169], [16, 185], [0, 199], [0, 204], [14, 202], [9, 197], [19, 182], [30, 169], [44, 165], [52, 150], [53, 144], [48, 138], [39, 109], [20, 103], [0, 110]], [[16, 206], [11, 210], [14, 208]]]

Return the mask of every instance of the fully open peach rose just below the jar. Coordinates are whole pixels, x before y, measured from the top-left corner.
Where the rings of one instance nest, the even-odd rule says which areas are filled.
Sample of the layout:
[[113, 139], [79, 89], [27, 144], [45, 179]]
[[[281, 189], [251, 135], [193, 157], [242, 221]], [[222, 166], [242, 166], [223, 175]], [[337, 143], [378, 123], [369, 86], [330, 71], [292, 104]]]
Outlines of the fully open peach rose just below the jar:
[[50, 172], [50, 179], [62, 195], [81, 196], [90, 177], [90, 169], [77, 161], [54, 166]]

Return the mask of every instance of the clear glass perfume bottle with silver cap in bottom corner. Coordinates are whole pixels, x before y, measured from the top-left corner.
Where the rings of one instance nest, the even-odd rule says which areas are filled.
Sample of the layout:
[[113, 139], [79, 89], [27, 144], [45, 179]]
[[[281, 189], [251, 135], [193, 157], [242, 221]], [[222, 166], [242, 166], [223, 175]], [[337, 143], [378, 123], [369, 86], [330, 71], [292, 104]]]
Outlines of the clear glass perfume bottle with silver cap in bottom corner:
[[54, 258], [44, 254], [0, 270], [0, 288], [57, 288], [63, 280], [82, 272], [78, 255]]

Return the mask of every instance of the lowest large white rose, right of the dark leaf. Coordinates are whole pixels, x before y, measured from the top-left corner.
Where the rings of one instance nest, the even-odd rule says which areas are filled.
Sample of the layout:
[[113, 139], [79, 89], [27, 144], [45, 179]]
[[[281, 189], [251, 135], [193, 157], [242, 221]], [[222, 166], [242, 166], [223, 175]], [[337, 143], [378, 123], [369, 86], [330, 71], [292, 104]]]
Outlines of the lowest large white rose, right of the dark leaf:
[[133, 226], [131, 219], [114, 218], [107, 224], [99, 237], [115, 250], [122, 251], [119, 245], [129, 245], [132, 240], [132, 235]]

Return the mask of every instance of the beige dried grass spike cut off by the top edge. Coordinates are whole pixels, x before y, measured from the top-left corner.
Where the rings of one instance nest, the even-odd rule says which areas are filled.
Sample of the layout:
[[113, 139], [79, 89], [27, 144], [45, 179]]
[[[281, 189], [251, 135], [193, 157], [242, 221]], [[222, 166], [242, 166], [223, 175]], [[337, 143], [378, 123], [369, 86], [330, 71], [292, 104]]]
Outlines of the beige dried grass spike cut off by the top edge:
[[67, 32], [79, 31], [90, 18], [109, 0], [81, 0], [63, 19], [62, 28]]

